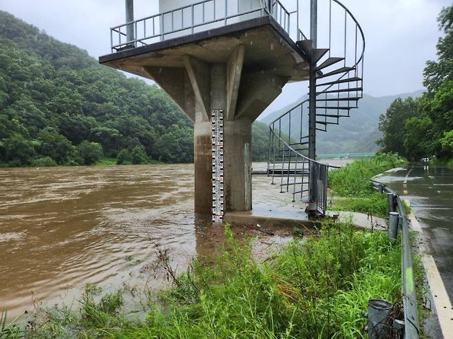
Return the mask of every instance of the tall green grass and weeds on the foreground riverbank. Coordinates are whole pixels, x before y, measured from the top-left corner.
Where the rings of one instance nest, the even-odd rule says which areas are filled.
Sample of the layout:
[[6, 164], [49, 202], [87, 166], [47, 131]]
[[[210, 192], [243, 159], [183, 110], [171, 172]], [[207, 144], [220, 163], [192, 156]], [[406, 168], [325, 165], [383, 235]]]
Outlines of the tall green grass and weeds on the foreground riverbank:
[[[144, 320], [123, 312], [122, 292], [89, 287], [77, 310], [54, 307], [8, 338], [366, 338], [370, 298], [401, 305], [401, 243], [386, 233], [324, 223], [257, 263], [251, 239], [227, 243], [213, 265], [193, 261]], [[160, 253], [166, 254], [165, 251]], [[160, 256], [160, 254], [158, 254]], [[167, 267], [162, 255], [162, 267]], [[174, 272], [168, 267], [169, 276]]]

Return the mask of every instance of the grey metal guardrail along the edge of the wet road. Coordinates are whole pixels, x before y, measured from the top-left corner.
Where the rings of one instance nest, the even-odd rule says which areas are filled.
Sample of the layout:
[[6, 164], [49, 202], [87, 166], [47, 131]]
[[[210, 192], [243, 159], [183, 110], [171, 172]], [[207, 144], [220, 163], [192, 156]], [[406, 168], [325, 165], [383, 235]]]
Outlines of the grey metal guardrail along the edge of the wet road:
[[372, 186], [381, 193], [387, 193], [389, 196], [389, 210], [398, 212], [399, 228], [401, 229], [401, 294], [403, 295], [404, 309], [404, 338], [419, 338], [419, 313], [417, 309], [417, 294], [415, 292], [414, 269], [412, 265], [412, 252], [410, 246], [410, 234], [408, 226], [408, 217], [406, 215], [403, 201], [397, 193], [391, 188], [371, 180]]

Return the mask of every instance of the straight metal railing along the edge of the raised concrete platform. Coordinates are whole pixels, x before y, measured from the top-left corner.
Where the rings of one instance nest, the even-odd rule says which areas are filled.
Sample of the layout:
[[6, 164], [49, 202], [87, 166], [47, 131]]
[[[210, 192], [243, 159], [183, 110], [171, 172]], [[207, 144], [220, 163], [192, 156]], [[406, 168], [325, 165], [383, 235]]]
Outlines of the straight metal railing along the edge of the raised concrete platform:
[[[289, 12], [278, 0], [260, 1], [259, 6], [254, 3], [253, 0], [249, 0], [249, 4], [244, 0], [204, 0], [123, 23], [110, 29], [110, 46], [115, 52], [266, 16], [271, 16], [286, 33], [297, 32], [298, 26], [291, 25], [292, 16], [298, 23], [297, 10]], [[134, 39], [127, 39], [127, 28], [131, 27], [134, 28]]]

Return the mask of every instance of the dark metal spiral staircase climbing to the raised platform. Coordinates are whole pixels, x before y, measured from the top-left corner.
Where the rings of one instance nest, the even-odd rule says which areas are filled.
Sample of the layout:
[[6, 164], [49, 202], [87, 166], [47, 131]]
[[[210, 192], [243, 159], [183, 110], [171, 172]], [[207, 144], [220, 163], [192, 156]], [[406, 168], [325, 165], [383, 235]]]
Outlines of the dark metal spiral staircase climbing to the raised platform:
[[326, 1], [328, 33], [317, 39], [315, 31], [313, 39], [325, 47], [297, 32], [297, 47], [310, 64], [308, 98], [269, 125], [267, 175], [293, 201], [307, 204], [309, 215], [325, 215], [327, 208], [329, 166], [315, 160], [316, 132], [350, 118], [364, 93], [364, 32], [340, 1]]

